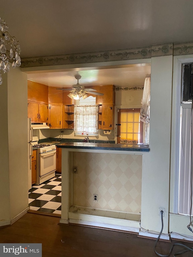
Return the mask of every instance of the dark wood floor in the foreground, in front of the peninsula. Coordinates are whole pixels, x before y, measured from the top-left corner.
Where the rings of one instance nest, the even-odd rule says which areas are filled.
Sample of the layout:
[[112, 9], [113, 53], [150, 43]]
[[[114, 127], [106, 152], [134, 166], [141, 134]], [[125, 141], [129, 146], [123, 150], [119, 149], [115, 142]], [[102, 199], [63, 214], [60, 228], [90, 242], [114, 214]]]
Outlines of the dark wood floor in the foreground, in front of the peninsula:
[[[43, 257], [157, 256], [153, 250], [155, 240], [140, 238], [137, 234], [58, 223], [59, 218], [56, 217], [27, 213], [12, 226], [0, 228], [0, 243], [42, 243]], [[156, 249], [161, 254], [168, 254], [174, 242], [177, 241], [159, 241]], [[177, 246], [172, 253], [180, 249]], [[193, 254], [186, 252], [179, 256]]]

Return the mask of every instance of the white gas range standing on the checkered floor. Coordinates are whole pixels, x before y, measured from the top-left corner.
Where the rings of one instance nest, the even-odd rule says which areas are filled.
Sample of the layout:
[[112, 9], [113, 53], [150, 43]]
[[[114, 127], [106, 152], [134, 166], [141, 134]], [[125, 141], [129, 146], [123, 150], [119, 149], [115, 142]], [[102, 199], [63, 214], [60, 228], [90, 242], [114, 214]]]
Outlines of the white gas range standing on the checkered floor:
[[56, 146], [52, 144], [34, 144], [37, 148], [36, 156], [36, 185], [55, 177], [56, 170]]

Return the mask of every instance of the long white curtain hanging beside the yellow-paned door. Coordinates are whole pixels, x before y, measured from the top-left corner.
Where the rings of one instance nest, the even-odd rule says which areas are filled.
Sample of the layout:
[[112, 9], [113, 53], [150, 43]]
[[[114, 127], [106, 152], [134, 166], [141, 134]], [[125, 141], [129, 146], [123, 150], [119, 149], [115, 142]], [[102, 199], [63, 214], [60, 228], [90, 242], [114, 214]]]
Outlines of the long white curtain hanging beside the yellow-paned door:
[[144, 143], [149, 144], [149, 122], [150, 122], [150, 83], [151, 74], [145, 75], [144, 91], [141, 100], [140, 120], [145, 124]]

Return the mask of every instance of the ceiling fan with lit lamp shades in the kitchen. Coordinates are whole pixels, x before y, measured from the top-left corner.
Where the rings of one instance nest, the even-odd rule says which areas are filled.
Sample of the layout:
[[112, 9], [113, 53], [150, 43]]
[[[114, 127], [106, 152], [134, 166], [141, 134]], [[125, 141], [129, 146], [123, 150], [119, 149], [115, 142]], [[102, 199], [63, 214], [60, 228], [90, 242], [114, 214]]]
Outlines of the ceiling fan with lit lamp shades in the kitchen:
[[90, 93], [92, 95], [97, 95], [97, 96], [103, 96], [103, 93], [98, 93], [96, 92], [96, 89], [93, 88], [84, 88], [83, 85], [79, 84], [79, 80], [81, 79], [80, 75], [76, 75], [74, 76], [75, 79], [78, 80], [76, 85], [72, 85], [72, 89], [64, 89], [64, 88], [59, 88], [61, 90], [65, 90], [65, 91], [69, 91], [70, 93], [68, 94], [68, 97], [70, 97], [71, 99], [74, 98], [75, 100], [78, 100], [80, 97], [82, 97], [83, 99], [88, 97], [87, 93]]

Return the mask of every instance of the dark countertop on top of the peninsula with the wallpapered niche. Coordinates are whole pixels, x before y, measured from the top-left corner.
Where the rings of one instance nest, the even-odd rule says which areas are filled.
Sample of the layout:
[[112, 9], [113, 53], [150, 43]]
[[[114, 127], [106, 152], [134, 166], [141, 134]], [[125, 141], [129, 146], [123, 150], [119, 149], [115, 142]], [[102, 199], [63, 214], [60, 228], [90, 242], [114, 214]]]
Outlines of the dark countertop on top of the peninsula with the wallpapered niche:
[[109, 144], [109, 143], [81, 143], [81, 142], [67, 142], [57, 145], [58, 148], [71, 149], [97, 149], [97, 150], [114, 150], [114, 151], [137, 151], [149, 152], [149, 145], [128, 145], [128, 144]]

